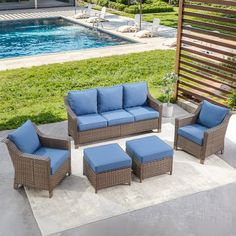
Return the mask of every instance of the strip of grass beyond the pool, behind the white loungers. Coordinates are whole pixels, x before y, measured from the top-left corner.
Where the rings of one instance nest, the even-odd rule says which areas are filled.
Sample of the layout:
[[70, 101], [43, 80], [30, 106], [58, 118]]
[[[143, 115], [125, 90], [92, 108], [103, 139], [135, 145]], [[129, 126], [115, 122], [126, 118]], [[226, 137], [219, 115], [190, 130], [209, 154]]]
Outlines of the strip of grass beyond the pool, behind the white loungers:
[[[96, 6], [93, 9], [101, 10], [100, 6]], [[134, 18], [134, 14], [128, 14], [123, 11], [117, 11], [114, 9], [108, 9], [109, 13], [119, 15], [119, 16], [126, 16], [130, 18]], [[143, 20], [152, 22], [154, 18], [159, 18], [161, 20], [161, 25], [177, 28], [178, 26], [178, 8], [174, 7], [173, 12], [160, 12], [160, 13], [148, 13], [143, 14]]]

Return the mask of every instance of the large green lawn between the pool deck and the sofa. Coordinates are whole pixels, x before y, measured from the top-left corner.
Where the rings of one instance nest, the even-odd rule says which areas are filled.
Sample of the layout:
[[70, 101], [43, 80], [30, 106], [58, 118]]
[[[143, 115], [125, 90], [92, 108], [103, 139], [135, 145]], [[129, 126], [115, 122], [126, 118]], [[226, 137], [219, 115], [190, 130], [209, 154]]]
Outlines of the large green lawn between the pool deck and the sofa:
[[156, 50], [0, 72], [0, 130], [31, 119], [37, 124], [65, 120], [69, 90], [147, 81], [160, 96], [160, 78], [174, 68], [174, 50]]

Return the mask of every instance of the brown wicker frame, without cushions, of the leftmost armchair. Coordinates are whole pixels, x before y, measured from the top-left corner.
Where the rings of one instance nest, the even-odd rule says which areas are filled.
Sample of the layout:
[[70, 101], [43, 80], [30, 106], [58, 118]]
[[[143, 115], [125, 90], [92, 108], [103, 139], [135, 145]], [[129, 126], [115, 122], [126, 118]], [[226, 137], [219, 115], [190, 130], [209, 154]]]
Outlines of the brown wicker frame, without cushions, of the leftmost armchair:
[[40, 132], [35, 125], [34, 127], [43, 147], [66, 149], [69, 151], [69, 158], [64, 161], [54, 174], [51, 174], [51, 160], [48, 157], [23, 153], [9, 138], [5, 138], [2, 142], [7, 145], [15, 169], [14, 188], [18, 189], [20, 186], [28, 186], [47, 190], [51, 198], [55, 186], [59, 184], [67, 174], [71, 175], [71, 142], [69, 139], [63, 140], [48, 137]]

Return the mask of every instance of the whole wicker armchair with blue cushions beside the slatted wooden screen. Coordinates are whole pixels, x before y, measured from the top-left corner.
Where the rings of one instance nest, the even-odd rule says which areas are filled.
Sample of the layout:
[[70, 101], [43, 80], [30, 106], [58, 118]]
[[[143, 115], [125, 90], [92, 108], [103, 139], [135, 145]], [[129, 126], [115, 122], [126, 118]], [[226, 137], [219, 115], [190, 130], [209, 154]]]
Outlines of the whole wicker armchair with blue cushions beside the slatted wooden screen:
[[224, 139], [229, 119], [229, 109], [201, 102], [194, 114], [176, 118], [174, 148], [194, 155], [204, 164], [205, 158], [224, 151]]

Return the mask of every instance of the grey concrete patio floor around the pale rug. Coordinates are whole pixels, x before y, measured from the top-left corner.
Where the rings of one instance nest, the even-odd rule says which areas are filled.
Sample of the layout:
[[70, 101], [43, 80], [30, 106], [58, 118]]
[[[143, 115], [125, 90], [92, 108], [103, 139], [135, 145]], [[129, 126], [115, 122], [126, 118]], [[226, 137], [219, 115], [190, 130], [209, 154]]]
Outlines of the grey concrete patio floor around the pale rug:
[[[175, 106], [175, 117], [187, 114]], [[233, 117], [235, 124], [235, 116]], [[174, 122], [164, 119], [165, 122]], [[231, 121], [232, 124], [232, 121]], [[66, 137], [67, 123], [41, 125], [48, 134]], [[232, 127], [230, 128], [232, 131]], [[9, 131], [0, 132], [0, 140]], [[236, 167], [235, 140], [226, 139], [220, 157]], [[0, 235], [41, 235], [23, 189], [13, 189], [13, 167], [4, 144], [0, 144]], [[214, 173], [212, 173], [214, 174]], [[55, 234], [56, 236], [235, 236], [236, 183], [178, 198], [110, 219]]]

